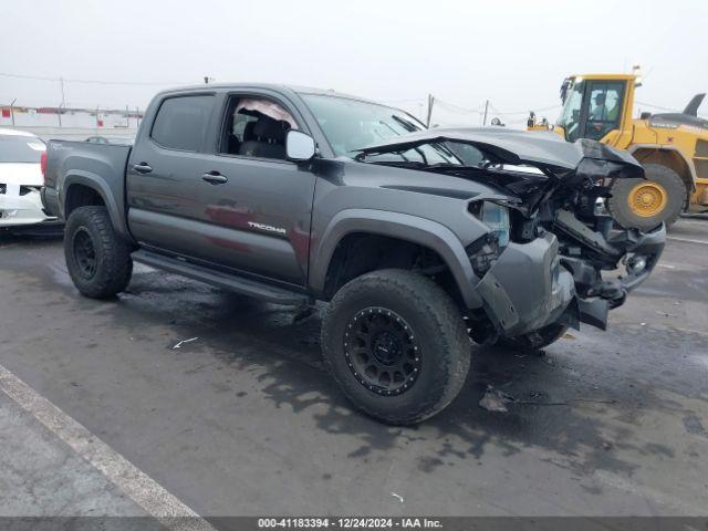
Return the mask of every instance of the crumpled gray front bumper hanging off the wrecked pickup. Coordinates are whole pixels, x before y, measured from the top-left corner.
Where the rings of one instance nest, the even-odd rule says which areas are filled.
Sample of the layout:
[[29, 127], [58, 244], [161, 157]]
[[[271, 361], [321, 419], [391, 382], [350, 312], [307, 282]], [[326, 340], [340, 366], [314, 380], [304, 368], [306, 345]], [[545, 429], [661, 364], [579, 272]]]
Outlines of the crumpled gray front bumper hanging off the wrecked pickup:
[[665, 241], [664, 226], [616, 233], [606, 243], [626, 272], [603, 280], [585, 260], [561, 257], [558, 239], [546, 232], [529, 243], [509, 243], [475, 289], [498, 332], [508, 337], [556, 322], [605, 330], [608, 311], [649, 277]]

